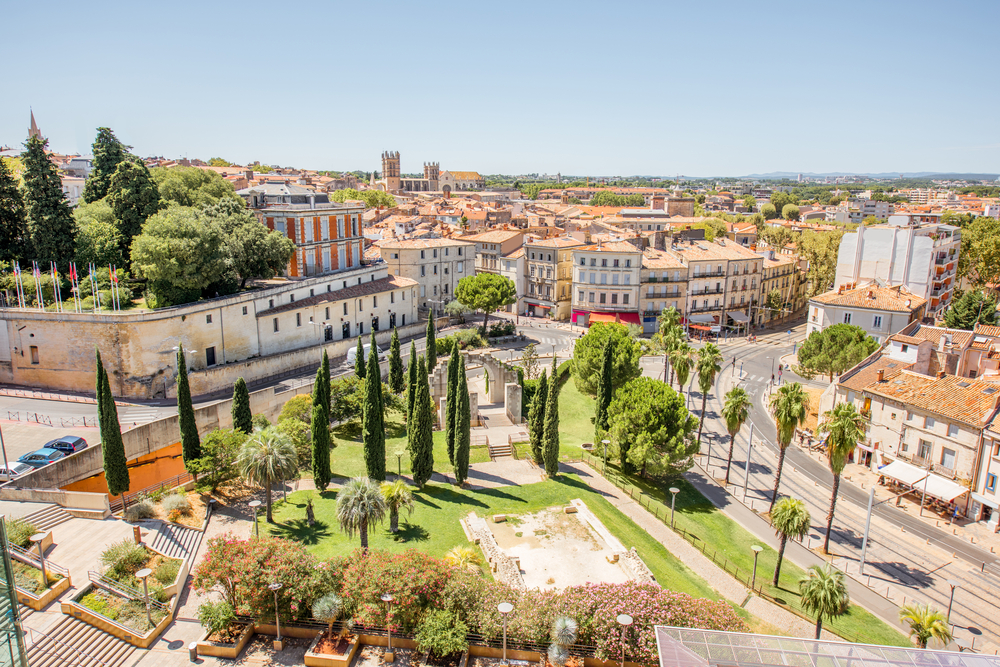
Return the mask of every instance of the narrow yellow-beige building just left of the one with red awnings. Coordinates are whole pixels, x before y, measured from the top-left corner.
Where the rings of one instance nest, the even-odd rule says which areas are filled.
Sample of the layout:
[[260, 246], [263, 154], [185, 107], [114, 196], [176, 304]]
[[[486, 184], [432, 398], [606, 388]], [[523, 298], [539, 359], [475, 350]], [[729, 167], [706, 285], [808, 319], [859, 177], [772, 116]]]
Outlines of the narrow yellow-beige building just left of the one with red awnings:
[[573, 249], [584, 245], [569, 236], [525, 242], [528, 271], [525, 315], [569, 319], [573, 303]]

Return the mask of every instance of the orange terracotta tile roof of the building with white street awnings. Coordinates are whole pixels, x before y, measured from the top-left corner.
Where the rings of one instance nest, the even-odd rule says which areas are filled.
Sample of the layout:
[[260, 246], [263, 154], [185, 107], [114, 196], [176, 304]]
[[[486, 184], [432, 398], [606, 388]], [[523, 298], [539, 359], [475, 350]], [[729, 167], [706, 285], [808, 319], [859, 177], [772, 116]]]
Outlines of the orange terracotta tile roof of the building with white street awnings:
[[865, 391], [975, 427], [992, 415], [1000, 399], [1000, 387], [988, 382], [956, 375], [928, 377], [908, 370], [870, 384]]

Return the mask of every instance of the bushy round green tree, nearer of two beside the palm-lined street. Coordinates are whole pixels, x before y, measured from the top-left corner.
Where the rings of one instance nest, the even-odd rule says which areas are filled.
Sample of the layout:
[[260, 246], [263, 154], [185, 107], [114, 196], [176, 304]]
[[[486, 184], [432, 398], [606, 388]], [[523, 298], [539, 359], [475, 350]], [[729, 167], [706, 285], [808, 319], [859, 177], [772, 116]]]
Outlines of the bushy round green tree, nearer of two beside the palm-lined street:
[[660, 380], [639, 377], [619, 387], [608, 407], [608, 424], [625, 472], [634, 467], [643, 476], [679, 474], [691, 467], [698, 451], [692, 438], [697, 420], [684, 398]]

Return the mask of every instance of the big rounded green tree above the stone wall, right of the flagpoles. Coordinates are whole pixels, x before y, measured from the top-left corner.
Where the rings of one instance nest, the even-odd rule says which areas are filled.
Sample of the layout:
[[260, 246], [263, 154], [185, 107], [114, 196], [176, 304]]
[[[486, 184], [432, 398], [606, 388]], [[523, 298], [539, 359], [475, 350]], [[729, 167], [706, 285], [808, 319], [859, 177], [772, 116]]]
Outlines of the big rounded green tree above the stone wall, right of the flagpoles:
[[225, 235], [201, 214], [171, 207], [147, 220], [132, 241], [132, 267], [147, 280], [153, 307], [195, 301], [228, 268]]

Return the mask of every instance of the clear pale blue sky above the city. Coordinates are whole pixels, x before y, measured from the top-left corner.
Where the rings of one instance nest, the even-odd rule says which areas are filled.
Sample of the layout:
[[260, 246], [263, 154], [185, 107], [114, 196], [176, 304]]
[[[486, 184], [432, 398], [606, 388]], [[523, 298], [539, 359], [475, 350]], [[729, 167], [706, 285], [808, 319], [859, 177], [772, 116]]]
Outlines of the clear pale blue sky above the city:
[[4, 3], [0, 144], [404, 172], [1000, 172], [1000, 2]]

